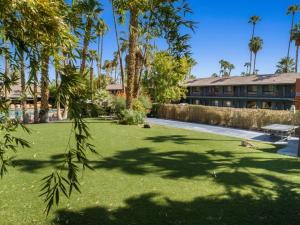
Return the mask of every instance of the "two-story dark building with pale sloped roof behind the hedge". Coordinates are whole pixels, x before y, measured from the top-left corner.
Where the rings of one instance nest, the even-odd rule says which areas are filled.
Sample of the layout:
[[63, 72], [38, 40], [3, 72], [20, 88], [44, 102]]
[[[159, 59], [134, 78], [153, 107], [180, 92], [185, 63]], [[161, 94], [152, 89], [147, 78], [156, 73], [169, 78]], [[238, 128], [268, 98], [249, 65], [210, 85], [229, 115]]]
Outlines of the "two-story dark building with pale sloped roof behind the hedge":
[[200, 78], [188, 81], [187, 87], [189, 104], [277, 110], [296, 105], [300, 109], [299, 73]]

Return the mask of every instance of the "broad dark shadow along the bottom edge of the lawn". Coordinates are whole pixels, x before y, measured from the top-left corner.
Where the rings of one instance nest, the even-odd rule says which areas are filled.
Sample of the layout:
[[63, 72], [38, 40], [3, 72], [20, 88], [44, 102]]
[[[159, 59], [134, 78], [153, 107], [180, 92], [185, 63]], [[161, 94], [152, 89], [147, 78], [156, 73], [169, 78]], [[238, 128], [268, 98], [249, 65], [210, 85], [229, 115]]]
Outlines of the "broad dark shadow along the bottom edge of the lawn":
[[[299, 225], [300, 196], [289, 187], [277, 196], [255, 197], [230, 193], [176, 201], [145, 193], [131, 197], [117, 209], [90, 207], [81, 211], [59, 210], [55, 225]], [[159, 199], [159, 201], [157, 200]]]

